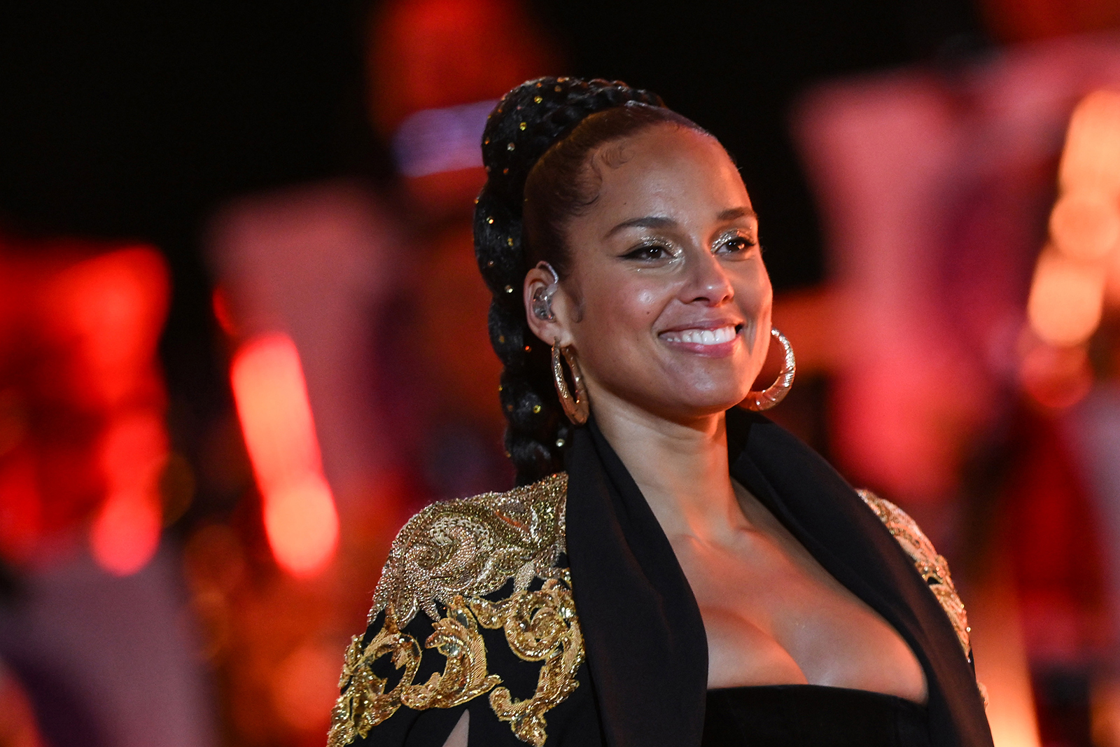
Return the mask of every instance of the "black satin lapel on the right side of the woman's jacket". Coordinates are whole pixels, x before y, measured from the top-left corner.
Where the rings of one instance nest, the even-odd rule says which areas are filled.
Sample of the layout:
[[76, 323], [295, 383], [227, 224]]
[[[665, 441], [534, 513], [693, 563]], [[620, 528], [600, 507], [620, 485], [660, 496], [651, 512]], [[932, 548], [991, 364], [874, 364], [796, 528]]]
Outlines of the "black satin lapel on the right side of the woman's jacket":
[[727, 431], [731, 476], [914, 650], [928, 680], [934, 747], [991, 747], [952, 624], [883, 523], [824, 459], [766, 418], [730, 410]]

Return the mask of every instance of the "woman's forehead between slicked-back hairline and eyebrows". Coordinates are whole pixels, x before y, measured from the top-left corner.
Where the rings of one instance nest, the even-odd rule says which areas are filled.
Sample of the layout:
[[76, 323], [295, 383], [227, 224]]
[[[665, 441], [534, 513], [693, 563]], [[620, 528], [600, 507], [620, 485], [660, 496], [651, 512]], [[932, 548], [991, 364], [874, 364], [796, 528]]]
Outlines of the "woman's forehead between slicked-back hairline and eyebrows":
[[692, 223], [750, 207], [743, 178], [719, 141], [675, 123], [605, 143], [591, 155], [590, 167], [599, 189], [585, 217], [594, 223], [645, 215]]

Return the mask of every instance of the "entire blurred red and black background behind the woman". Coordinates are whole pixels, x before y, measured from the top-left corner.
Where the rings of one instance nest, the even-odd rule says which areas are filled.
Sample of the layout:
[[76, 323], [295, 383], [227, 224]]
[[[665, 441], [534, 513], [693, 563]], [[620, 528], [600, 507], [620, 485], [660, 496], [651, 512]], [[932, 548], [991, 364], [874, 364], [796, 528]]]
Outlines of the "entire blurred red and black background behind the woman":
[[0, 10], [0, 746], [304, 747], [388, 544], [506, 489], [474, 265], [539, 75], [718, 136], [799, 357], [998, 747], [1120, 745], [1120, 2]]

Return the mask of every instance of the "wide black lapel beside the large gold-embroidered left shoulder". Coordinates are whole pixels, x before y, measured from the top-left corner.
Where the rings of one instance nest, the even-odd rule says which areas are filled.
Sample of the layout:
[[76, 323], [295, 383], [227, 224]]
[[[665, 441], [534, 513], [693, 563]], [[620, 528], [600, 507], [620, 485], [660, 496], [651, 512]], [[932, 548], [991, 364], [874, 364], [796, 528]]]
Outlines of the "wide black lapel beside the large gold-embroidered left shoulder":
[[708, 639], [653, 511], [594, 420], [566, 456], [572, 594], [609, 747], [699, 747]]

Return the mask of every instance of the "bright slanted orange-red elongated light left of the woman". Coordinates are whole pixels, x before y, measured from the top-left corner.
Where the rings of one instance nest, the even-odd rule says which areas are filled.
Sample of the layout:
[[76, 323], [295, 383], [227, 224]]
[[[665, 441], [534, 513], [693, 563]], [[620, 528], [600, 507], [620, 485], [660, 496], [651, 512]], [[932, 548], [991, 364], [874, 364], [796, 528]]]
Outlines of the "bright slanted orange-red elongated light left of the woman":
[[323, 477], [295, 343], [280, 333], [245, 343], [234, 356], [231, 382], [272, 554], [289, 572], [312, 575], [334, 557], [338, 514]]

